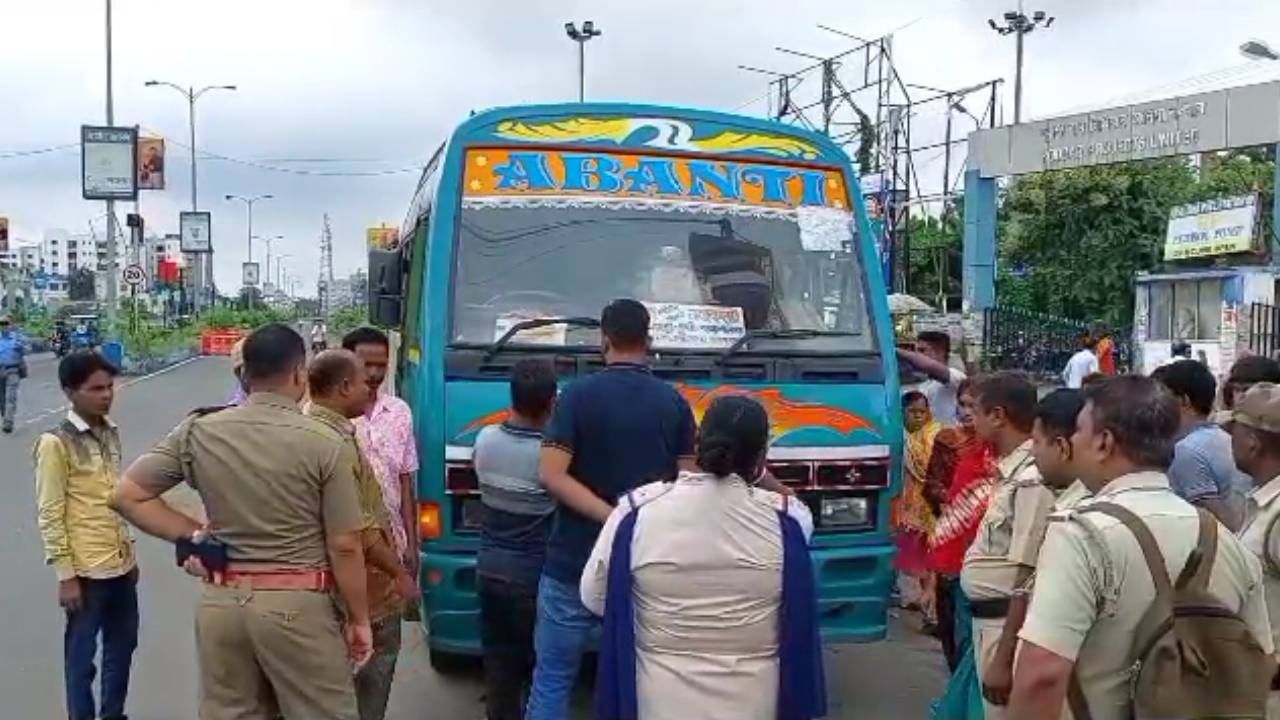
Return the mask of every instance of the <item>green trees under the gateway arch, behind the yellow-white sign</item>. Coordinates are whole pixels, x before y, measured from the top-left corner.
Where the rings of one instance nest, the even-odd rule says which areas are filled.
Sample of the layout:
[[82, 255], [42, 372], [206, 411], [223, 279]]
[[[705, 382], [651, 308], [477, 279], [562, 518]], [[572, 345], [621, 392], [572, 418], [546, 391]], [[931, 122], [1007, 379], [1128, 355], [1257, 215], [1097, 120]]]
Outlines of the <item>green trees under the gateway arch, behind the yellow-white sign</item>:
[[1262, 237], [1271, 237], [1274, 173], [1268, 151], [1244, 149], [1204, 155], [1199, 170], [1188, 158], [1167, 158], [1011, 181], [998, 218], [997, 295], [1029, 310], [1128, 325], [1134, 275], [1164, 264], [1169, 210], [1258, 192]]

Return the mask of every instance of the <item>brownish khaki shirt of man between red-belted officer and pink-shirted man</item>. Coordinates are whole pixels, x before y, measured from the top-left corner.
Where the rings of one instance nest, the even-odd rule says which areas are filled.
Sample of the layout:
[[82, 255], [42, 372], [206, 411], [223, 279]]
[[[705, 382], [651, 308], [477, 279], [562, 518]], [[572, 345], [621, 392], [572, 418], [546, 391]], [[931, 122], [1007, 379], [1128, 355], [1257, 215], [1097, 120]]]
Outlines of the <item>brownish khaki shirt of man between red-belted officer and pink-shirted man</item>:
[[[388, 552], [399, 557], [392, 544], [390, 529], [387, 525], [387, 507], [383, 505], [383, 491], [374, 475], [372, 466], [360, 451], [356, 442], [356, 425], [338, 413], [321, 407], [315, 402], [308, 402], [303, 413], [333, 428], [342, 436], [340, 464], [352, 469], [356, 477], [356, 488], [360, 492], [360, 510], [364, 515], [362, 544], [365, 550], [375, 546], [385, 546]], [[381, 620], [403, 606], [403, 601], [396, 592], [396, 579], [375, 568], [369, 557], [365, 557], [365, 585], [369, 596], [369, 618], [372, 621]]]

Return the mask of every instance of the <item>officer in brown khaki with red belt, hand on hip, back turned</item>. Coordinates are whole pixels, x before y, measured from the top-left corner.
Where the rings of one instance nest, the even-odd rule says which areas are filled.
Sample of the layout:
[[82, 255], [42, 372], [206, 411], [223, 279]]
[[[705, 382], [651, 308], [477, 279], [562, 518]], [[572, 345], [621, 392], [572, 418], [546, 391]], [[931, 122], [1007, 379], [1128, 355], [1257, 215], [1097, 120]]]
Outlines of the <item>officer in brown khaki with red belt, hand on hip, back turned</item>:
[[229, 561], [209, 574], [196, 615], [201, 720], [274, 720], [275, 703], [289, 719], [357, 720], [352, 670], [372, 643], [365, 521], [342, 437], [298, 409], [305, 364], [306, 345], [287, 325], [255, 331], [244, 342], [248, 401], [184, 420], [113, 498], [141, 530], [207, 550], [201, 525], [161, 498], [186, 480], [225, 543]]

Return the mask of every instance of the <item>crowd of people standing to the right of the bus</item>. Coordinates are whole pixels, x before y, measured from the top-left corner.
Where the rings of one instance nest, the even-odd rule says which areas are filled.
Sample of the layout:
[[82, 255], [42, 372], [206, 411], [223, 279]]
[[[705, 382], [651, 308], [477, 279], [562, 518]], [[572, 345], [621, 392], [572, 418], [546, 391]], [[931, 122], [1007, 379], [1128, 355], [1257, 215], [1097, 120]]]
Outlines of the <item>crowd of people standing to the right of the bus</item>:
[[[1280, 364], [1243, 357], [1220, 389], [1189, 357], [1116, 375], [1096, 351], [1043, 397], [1020, 373], [941, 366], [941, 333], [899, 351], [928, 375], [902, 396], [893, 521], [901, 602], [951, 670], [933, 719], [1280, 717]], [[1161, 644], [1181, 593], [1231, 619], [1230, 652], [1185, 628]], [[1197, 661], [1220, 687], [1180, 675]]]

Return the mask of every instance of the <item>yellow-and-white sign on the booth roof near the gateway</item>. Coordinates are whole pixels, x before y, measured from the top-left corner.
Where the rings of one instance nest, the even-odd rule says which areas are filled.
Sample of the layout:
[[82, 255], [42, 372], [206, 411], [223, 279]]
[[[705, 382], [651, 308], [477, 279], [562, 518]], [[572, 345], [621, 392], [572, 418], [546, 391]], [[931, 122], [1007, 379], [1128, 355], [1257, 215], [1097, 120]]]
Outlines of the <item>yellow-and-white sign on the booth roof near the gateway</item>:
[[1216, 197], [1169, 211], [1165, 260], [1188, 260], [1253, 250], [1257, 195]]

